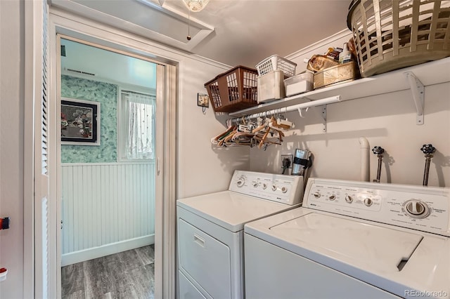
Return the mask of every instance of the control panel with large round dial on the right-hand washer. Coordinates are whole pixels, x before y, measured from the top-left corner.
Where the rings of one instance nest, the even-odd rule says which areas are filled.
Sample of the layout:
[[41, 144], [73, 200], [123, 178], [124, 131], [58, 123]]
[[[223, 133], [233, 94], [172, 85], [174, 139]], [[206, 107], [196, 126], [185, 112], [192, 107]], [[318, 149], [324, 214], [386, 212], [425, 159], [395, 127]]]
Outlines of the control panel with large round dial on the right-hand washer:
[[303, 206], [450, 237], [450, 188], [310, 178]]

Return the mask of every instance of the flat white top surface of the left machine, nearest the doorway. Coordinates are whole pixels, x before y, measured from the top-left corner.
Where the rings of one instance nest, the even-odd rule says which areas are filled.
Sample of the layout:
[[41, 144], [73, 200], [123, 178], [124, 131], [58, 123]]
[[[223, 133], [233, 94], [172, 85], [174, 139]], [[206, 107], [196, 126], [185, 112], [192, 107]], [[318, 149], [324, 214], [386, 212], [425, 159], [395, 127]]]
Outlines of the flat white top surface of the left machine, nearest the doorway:
[[231, 232], [243, 230], [246, 222], [299, 206], [298, 204], [295, 206], [280, 204], [275, 201], [250, 197], [232, 191], [179, 199], [176, 201], [176, 205], [200, 215], [200, 217], [210, 220]]

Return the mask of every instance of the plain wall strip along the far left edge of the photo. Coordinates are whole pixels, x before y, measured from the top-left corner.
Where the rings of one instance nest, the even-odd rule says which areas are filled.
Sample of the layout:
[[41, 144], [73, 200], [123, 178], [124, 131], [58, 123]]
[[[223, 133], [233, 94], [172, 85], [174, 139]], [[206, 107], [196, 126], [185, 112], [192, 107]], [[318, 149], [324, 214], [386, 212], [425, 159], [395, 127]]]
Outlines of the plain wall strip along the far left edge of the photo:
[[0, 1], [0, 217], [11, 217], [0, 230], [0, 298], [23, 297], [24, 15], [22, 1]]

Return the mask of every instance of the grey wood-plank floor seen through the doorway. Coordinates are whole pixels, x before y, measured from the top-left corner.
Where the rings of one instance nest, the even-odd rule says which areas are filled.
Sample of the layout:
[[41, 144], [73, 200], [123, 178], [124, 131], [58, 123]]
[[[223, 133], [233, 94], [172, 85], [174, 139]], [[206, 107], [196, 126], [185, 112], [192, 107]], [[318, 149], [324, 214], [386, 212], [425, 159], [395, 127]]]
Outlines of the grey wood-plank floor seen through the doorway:
[[153, 245], [62, 267], [62, 297], [154, 298]]

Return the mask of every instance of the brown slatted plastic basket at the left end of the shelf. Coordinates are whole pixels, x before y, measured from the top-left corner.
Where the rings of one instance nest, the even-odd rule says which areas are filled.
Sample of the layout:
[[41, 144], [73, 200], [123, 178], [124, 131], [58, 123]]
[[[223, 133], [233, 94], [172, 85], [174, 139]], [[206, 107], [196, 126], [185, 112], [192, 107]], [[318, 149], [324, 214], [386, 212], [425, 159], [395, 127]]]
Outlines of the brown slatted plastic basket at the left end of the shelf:
[[257, 70], [238, 66], [205, 83], [214, 112], [236, 112], [258, 105]]

